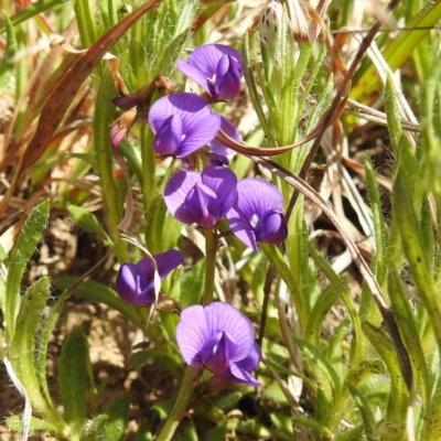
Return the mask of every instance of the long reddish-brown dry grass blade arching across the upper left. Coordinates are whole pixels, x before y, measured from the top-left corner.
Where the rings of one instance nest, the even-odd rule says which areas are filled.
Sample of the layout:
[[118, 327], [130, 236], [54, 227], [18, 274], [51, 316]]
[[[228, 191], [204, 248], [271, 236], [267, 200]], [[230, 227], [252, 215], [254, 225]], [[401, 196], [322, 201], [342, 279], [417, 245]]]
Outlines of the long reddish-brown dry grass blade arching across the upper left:
[[0, 216], [4, 214], [9, 198], [13, 194], [21, 175], [40, 159], [50, 144], [56, 128], [62, 121], [67, 108], [84, 80], [88, 75], [90, 75], [106, 52], [111, 49], [123, 33], [127, 32], [127, 30], [130, 29], [130, 26], [133, 25], [133, 23], [146, 12], [161, 3], [161, 1], [162, 0], [151, 0], [147, 2], [122, 19], [112, 29], [107, 31], [82, 57], [77, 60], [71, 71], [56, 85], [54, 92], [44, 105], [40, 116], [39, 126], [21, 158], [13, 182], [0, 204]]

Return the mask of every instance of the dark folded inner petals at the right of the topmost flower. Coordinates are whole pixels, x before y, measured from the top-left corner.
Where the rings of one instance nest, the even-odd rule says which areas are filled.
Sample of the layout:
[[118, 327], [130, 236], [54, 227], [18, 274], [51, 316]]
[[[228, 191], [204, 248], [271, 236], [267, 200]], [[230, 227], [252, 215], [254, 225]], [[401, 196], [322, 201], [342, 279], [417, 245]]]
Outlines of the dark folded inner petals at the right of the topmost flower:
[[218, 99], [236, 98], [240, 92], [240, 64], [229, 55], [223, 55], [216, 69], [215, 96]]

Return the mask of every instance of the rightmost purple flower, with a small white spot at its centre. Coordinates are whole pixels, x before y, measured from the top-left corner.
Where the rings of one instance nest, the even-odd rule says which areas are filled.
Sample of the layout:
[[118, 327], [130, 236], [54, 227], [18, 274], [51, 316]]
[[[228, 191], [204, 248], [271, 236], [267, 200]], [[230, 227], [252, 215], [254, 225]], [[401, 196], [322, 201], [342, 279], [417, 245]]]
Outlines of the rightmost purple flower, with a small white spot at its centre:
[[269, 182], [245, 179], [237, 183], [237, 198], [227, 213], [232, 232], [257, 251], [257, 243], [280, 244], [288, 236], [283, 196]]

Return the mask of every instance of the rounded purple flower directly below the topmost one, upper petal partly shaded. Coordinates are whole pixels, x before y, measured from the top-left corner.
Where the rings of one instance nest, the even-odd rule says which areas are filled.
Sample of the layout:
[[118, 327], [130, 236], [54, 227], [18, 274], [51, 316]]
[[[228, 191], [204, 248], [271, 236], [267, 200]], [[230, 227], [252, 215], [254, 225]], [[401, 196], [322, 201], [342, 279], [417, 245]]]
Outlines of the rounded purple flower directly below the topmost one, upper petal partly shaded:
[[220, 116], [197, 95], [164, 96], [149, 111], [155, 133], [153, 148], [159, 154], [184, 158], [213, 141], [220, 128]]

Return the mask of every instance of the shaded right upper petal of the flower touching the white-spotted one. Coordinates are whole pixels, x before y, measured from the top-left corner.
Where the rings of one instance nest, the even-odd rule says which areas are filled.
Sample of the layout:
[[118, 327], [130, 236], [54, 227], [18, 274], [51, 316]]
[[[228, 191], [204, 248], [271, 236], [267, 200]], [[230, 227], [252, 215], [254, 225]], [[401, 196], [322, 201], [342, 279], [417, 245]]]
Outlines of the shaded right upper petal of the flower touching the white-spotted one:
[[208, 166], [202, 172], [202, 182], [216, 193], [218, 216], [225, 216], [236, 200], [237, 178], [234, 172], [224, 166]]

